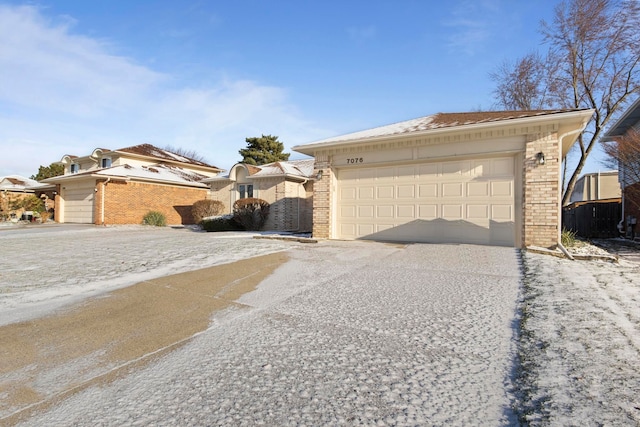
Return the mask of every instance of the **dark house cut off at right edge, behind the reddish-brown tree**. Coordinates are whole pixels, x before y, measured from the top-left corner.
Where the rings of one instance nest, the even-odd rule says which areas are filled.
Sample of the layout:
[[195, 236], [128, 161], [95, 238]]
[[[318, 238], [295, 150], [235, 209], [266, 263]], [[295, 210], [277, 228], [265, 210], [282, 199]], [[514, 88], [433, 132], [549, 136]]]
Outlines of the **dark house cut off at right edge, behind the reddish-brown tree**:
[[[622, 116], [607, 130], [603, 141], [614, 141], [623, 137], [630, 130], [640, 131], [640, 98], [627, 109]], [[622, 213], [620, 231], [627, 237], [635, 237], [640, 218], [640, 165], [618, 165], [618, 181], [622, 188]]]

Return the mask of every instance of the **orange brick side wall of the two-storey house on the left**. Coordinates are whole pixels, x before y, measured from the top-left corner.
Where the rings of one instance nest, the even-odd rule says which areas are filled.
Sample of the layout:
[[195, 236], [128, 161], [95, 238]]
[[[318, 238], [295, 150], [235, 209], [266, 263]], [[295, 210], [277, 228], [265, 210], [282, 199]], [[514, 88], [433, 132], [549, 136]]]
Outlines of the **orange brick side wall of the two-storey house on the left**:
[[[97, 189], [94, 218], [96, 224], [102, 224], [104, 182]], [[141, 224], [149, 211], [158, 211], [165, 215], [167, 224], [193, 224], [191, 206], [208, 194], [208, 189], [112, 181], [104, 193], [104, 223]]]

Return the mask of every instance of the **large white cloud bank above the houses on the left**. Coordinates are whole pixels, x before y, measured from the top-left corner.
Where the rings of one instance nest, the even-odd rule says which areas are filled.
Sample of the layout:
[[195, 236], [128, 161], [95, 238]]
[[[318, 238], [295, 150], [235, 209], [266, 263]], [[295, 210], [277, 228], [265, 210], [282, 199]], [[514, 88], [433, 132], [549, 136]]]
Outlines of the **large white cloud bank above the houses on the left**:
[[113, 53], [107, 41], [74, 34], [73, 24], [33, 6], [0, 5], [0, 176], [145, 142], [229, 168], [246, 137], [272, 133], [290, 147], [326, 135], [282, 88], [231, 77], [188, 87]]

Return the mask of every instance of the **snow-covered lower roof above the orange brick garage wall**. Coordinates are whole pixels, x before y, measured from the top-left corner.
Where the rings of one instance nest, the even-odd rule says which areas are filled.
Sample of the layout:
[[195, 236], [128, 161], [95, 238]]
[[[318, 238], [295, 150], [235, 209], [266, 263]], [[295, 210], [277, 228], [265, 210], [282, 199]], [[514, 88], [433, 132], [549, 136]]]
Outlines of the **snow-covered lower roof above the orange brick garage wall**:
[[94, 171], [95, 175], [110, 177], [138, 178], [144, 180], [171, 182], [176, 184], [199, 184], [206, 187], [200, 181], [207, 178], [196, 172], [188, 171], [177, 166], [158, 163], [149, 166], [131, 166], [128, 164]]

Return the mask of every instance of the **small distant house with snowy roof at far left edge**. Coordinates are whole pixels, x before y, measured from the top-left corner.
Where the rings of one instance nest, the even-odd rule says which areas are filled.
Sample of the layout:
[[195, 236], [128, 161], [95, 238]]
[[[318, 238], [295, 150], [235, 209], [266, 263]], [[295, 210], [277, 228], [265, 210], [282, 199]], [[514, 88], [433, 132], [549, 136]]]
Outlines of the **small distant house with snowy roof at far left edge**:
[[53, 190], [52, 185], [41, 184], [20, 175], [0, 177], [0, 220], [20, 218], [24, 209], [15, 206], [29, 196], [40, 197], [46, 210], [53, 209]]

